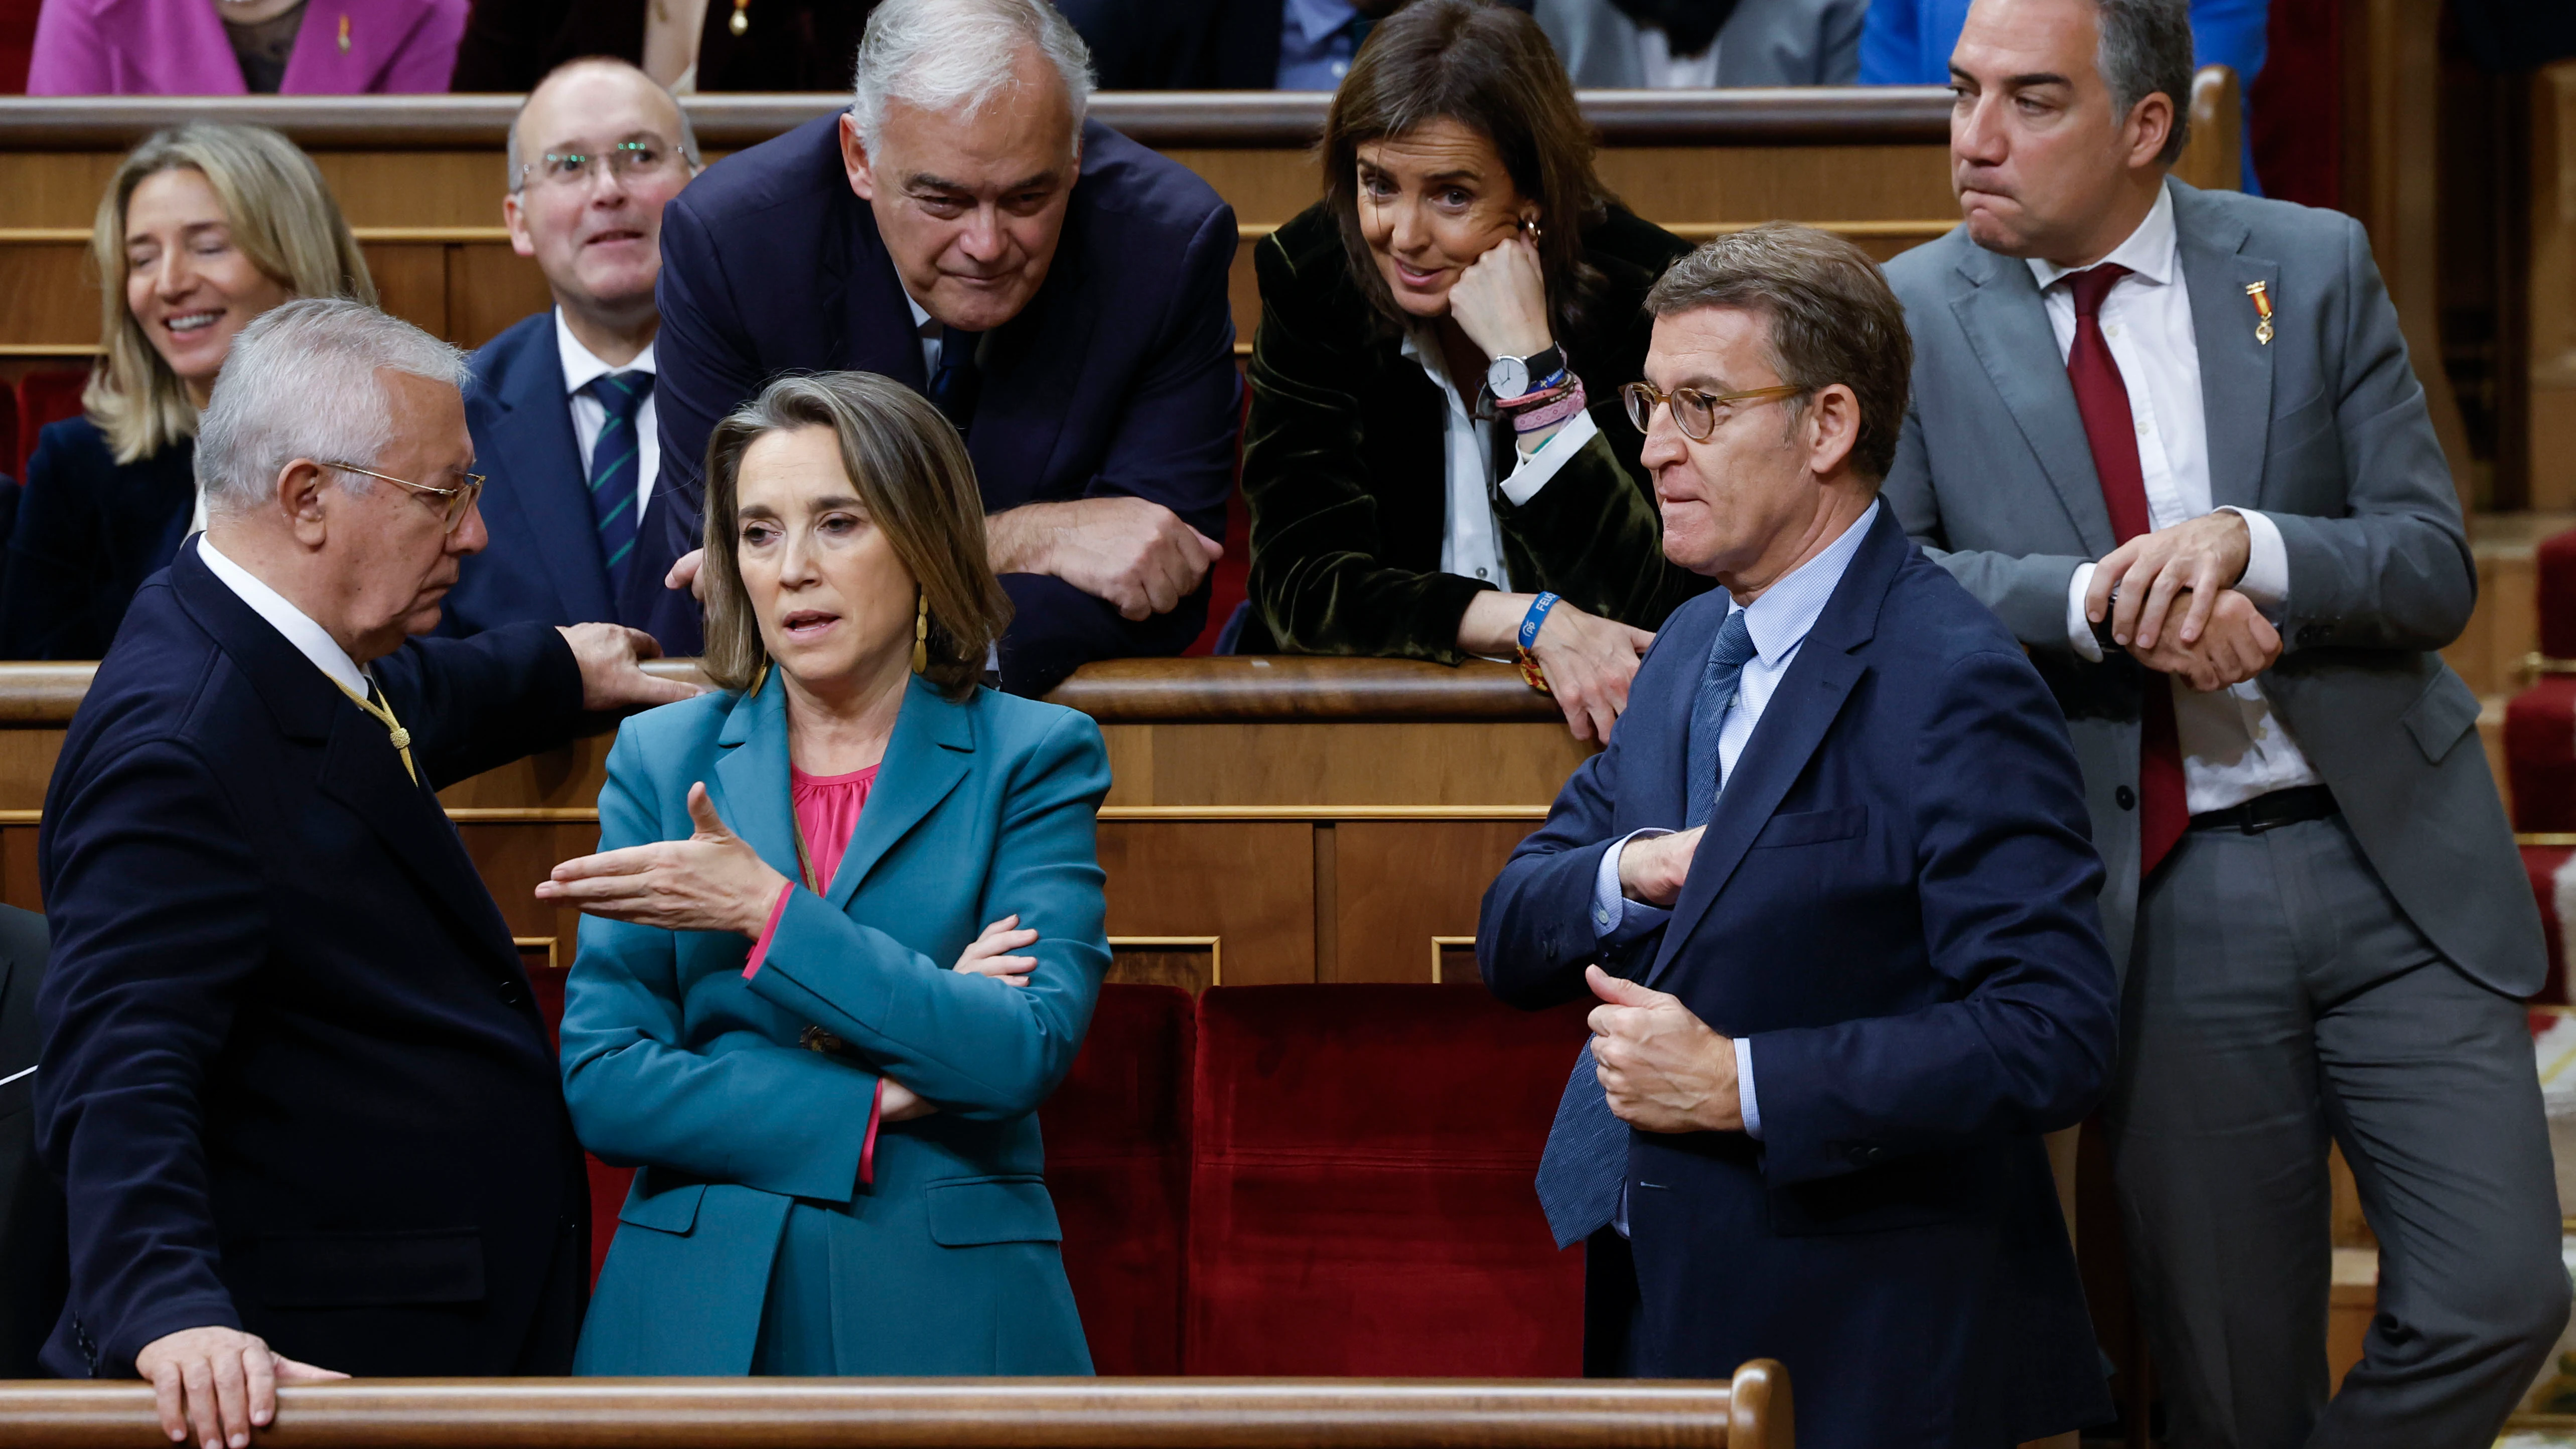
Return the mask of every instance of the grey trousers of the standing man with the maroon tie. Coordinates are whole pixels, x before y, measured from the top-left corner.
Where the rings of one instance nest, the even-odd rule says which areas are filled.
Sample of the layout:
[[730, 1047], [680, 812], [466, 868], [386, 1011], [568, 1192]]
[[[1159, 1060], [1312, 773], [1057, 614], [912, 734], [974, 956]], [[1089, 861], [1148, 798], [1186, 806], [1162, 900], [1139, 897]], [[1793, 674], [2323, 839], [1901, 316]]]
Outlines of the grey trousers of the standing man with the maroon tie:
[[[2445, 963], [2334, 816], [2182, 839], [2138, 901], [2120, 1032], [2112, 1171], [2166, 1446], [2494, 1444], [2568, 1320], [2522, 1004]], [[2329, 1132], [2380, 1241], [2334, 1403]]]

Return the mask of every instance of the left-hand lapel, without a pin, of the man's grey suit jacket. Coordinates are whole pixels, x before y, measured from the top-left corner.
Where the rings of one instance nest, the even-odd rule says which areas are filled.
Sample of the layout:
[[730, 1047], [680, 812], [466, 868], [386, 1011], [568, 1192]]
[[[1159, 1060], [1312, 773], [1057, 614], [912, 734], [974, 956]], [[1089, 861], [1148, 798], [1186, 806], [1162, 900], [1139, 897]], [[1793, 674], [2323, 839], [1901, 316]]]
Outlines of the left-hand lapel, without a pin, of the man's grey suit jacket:
[[2092, 466], [2092, 445], [2084, 443], [2076, 389], [2066, 381], [2058, 335], [2048, 327], [2038, 281], [2017, 257], [1976, 245], [1968, 247], [1958, 275], [1965, 286], [1953, 288], [1950, 311], [1958, 314], [1976, 360], [1986, 365], [2004, 409], [2038, 453], [2040, 471], [2066, 504], [2087, 553], [2110, 553], [2115, 543], [2110, 504], [2102, 502], [2102, 479]]

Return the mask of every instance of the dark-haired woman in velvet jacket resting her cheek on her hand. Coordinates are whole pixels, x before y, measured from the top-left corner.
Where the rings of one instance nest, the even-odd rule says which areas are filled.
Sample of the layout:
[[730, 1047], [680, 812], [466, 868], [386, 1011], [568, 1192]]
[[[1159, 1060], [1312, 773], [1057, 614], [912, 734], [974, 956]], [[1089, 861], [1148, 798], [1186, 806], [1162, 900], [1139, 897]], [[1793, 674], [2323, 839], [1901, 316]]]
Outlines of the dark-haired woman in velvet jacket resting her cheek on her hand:
[[1646, 288], [1690, 250], [1615, 206], [1525, 13], [1417, 0], [1324, 121], [1324, 201], [1255, 250], [1244, 654], [1543, 672], [1579, 739], [1708, 587], [1664, 558], [1643, 438]]

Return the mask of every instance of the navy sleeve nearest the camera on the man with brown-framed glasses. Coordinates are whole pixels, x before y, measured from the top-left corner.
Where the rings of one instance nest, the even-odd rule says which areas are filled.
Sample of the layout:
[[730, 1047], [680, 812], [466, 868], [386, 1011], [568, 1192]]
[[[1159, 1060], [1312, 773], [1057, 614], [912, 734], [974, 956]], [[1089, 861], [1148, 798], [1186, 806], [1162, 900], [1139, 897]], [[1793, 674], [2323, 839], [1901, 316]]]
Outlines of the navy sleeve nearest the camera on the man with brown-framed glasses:
[[1917, 898], [1932, 970], [1955, 996], [1749, 1037], [1775, 1184], [2053, 1132], [2110, 1081], [2102, 862], [2056, 705], [2020, 656], [1976, 654], [1924, 718]]

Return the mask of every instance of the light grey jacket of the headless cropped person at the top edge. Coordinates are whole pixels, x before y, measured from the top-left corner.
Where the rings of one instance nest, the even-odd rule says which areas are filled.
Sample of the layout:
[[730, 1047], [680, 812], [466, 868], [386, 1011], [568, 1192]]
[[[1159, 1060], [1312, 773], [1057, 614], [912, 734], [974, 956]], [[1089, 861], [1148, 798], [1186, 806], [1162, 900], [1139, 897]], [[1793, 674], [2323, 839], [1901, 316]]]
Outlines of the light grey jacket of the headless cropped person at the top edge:
[[[1870, 0], [1736, 0], [1718, 31], [1718, 85], [1860, 85], [1860, 21]], [[1574, 85], [1646, 85], [1636, 21], [1610, 0], [1533, 0], [1530, 15]]]

